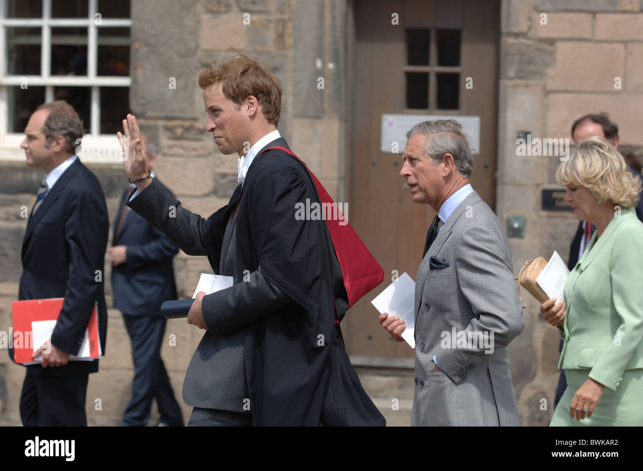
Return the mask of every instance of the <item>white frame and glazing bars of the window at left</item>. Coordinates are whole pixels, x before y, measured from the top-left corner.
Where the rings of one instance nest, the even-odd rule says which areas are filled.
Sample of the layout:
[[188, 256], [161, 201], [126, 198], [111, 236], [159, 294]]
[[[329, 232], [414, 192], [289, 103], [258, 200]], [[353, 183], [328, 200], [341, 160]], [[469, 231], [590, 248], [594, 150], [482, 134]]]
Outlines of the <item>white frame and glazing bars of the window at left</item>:
[[[91, 129], [83, 136], [83, 145], [78, 156], [91, 163], [120, 163], [118, 140], [114, 134], [100, 134], [100, 87], [131, 87], [131, 76], [98, 76], [98, 28], [131, 28], [131, 18], [100, 18], [96, 24], [98, 0], [87, 0], [87, 18], [52, 18], [51, 1], [42, 0], [42, 18], [6, 18], [6, 0], [0, 0], [0, 161], [24, 161], [20, 143], [23, 133], [7, 132], [8, 129], [8, 86], [20, 86], [26, 78], [28, 85], [44, 86], [45, 101], [53, 101], [53, 88], [57, 86], [84, 86], [91, 89]], [[8, 57], [6, 51], [6, 27], [20, 26], [42, 28], [41, 75], [7, 75]], [[87, 28], [87, 76], [52, 76], [51, 69], [51, 28]], [[131, 35], [130, 35], [131, 37]], [[4, 56], [4, 57], [3, 57]], [[123, 117], [124, 118], [124, 117]], [[93, 139], [92, 136], [96, 138]]]

